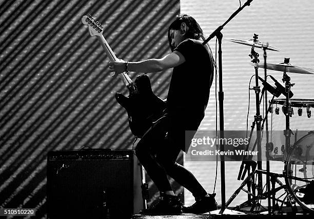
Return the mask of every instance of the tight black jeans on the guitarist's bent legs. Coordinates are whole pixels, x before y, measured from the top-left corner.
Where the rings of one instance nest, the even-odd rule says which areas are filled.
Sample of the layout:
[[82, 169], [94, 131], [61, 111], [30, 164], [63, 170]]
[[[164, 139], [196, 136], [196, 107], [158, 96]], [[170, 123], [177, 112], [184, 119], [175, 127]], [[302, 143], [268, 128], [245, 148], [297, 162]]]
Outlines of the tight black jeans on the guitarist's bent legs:
[[198, 200], [207, 192], [189, 170], [175, 162], [181, 149], [175, 137], [170, 136], [169, 116], [166, 115], [156, 121], [139, 141], [135, 154], [161, 192], [172, 190], [168, 174]]

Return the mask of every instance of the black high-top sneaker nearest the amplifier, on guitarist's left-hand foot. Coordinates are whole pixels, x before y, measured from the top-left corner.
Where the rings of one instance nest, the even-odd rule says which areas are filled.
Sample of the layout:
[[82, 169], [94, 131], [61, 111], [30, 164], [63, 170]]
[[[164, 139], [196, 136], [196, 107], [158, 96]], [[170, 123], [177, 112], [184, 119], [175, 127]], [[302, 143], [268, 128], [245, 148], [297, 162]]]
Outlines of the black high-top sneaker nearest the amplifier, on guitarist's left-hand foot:
[[182, 203], [179, 195], [160, 193], [159, 202], [153, 207], [143, 209], [140, 214], [144, 215], [176, 215], [182, 214]]

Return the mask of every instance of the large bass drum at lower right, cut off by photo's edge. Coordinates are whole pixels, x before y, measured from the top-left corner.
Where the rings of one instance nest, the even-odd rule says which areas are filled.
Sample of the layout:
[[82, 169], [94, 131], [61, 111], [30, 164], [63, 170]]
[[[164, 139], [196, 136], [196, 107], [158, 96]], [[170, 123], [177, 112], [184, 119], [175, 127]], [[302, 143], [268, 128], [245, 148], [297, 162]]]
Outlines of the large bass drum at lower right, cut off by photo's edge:
[[289, 148], [285, 162], [285, 182], [296, 202], [314, 213], [314, 131]]

